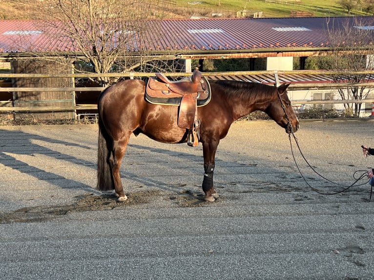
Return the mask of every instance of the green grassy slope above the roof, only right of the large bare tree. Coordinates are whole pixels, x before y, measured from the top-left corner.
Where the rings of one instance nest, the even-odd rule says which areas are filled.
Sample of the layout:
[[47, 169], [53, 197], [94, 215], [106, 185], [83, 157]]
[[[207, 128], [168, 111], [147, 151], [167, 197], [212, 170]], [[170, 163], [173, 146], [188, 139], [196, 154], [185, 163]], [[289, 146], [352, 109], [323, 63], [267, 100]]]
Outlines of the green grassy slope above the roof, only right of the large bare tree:
[[[263, 12], [263, 17], [290, 17], [291, 10], [313, 13], [316, 17], [348, 16], [337, 0], [301, 0], [286, 3], [281, 0], [266, 2], [265, 0], [174, 0], [179, 9], [178, 14], [184, 17], [206, 16], [212, 13], [224, 14], [224, 17], [233, 18], [237, 11]], [[351, 15], [364, 15], [357, 7]]]

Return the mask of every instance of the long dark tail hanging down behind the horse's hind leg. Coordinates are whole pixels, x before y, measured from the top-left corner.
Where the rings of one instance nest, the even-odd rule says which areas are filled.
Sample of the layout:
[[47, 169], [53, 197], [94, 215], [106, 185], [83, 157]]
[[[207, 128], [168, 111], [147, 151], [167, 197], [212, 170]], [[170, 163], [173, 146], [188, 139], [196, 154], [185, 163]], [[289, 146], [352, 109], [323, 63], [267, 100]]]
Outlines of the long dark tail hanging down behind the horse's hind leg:
[[111, 151], [111, 140], [107, 134], [103, 121], [99, 117], [99, 140], [97, 154], [97, 188], [101, 191], [114, 189], [112, 172], [108, 163], [108, 155]]

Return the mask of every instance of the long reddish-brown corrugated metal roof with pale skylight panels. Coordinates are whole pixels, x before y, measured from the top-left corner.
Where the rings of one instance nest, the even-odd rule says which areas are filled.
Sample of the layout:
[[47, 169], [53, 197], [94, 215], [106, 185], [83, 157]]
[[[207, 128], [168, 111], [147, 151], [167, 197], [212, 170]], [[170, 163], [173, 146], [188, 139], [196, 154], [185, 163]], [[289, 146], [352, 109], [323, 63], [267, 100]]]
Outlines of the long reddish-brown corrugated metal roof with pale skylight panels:
[[[337, 32], [347, 24], [355, 26], [357, 20], [363, 23], [360, 25], [362, 28], [374, 32], [374, 17], [155, 20], [148, 22], [148, 40], [140, 43], [134, 34], [127, 49], [203, 52], [285, 48], [312, 50], [331, 47], [329, 32]], [[35, 20], [0, 20], [0, 53], [79, 51], [69, 38], [57, 39], [58, 29], [45, 28], [43, 24]], [[372, 38], [366, 43], [372, 44]]]

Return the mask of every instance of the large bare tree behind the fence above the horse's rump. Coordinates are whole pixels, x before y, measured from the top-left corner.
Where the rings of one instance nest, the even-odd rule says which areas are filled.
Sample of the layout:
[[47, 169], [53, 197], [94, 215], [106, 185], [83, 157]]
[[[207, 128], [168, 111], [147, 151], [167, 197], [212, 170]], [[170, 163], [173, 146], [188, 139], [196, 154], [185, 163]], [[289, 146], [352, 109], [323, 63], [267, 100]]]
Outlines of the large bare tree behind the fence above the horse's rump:
[[[82, 60], [76, 69], [94, 73], [131, 71], [159, 65], [152, 41], [161, 38], [163, 0], [35, 0], [48, 32], [62, 54]], [[149, 32], [152, 31], [152, 32]], [[147, 46], [147, 49], [145, 49]], [[171, 51], [170, 51], [171, 52]], [[100, 77], [102, 85], [109, 78]]]

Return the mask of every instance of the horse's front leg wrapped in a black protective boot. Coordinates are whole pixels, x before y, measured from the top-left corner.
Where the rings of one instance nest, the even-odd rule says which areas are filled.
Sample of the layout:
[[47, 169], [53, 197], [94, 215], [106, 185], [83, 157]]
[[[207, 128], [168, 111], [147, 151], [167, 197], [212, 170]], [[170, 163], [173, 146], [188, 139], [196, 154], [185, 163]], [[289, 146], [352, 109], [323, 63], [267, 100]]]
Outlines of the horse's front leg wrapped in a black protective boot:
[[212, 141], [210, 143], [203, 143], [204, 155], [204, 180], [203, 191], [205, 193], [204, 199], [206, 201], [214, 201], [218, 199], [218, 194], [213, 188], [213, 174], [214, 174], [214, 158], [217, 151], [219, 141]]

